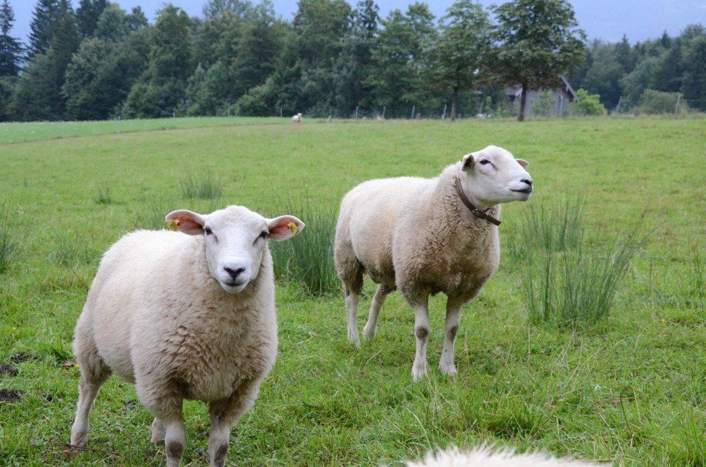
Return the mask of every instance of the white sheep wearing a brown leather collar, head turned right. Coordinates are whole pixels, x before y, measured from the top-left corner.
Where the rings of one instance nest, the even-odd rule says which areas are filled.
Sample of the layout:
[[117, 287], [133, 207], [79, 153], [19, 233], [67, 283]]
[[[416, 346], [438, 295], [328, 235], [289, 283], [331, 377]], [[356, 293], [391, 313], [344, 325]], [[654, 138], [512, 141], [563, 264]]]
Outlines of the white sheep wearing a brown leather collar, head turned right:
[[383, 178], [353, 188], [341, 202], [335, 265], [345, 291], [348, 339], [359, 346], [357, 308], [367, 272], [378, 286], [364, 339], [375, 334], [381, 307], [400, 289], [414, 310], [417, 354], [412, 377], [427, 373], [429, 295], [446, 305], [441, 372], [453, 375], [453, 343], [461, 308], [478, 295], [500, 260], [501, 202], [528, 200], [527, 162], [500, 147], [472, 152], [436, 178]]

